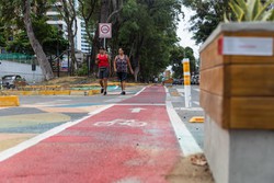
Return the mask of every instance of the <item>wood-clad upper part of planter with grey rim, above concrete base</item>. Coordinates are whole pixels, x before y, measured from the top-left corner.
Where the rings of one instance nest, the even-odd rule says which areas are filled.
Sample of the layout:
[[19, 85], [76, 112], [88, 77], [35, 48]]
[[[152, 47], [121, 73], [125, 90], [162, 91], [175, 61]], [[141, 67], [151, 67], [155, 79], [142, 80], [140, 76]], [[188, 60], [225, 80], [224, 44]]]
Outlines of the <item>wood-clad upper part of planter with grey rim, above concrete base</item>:
[[201, 106], [222, 128], [274, 129], [274, 23], [220, 24], [201, 48]]

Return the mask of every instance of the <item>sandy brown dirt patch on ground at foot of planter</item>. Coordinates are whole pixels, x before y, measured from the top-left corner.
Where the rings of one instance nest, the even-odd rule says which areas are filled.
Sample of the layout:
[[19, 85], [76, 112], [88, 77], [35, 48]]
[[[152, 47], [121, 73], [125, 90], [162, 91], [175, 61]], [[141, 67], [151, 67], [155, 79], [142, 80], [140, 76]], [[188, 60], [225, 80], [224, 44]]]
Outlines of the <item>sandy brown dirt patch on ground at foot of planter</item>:
[[[196, 155], [202, 156], [203, 155]], [[181, 158], [167, 176], [169, 183], [215, 183], [209, 167], [193, 164], [193, 157]]]

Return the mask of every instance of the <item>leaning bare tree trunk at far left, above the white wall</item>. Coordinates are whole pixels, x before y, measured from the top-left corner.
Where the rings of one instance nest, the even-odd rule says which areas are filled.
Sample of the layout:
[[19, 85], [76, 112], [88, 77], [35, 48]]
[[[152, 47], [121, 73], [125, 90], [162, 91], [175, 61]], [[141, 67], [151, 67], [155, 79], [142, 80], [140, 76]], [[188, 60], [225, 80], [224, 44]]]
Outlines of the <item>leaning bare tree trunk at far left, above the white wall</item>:
[[54, 72], [50, 67], [49, 61], [47, 60], [46, 54], [43, 50], [43, 47], [41, 46], [39, 42], [36, 39], [35, 34], [33, 32], [30, 0], [24, 0], [23, 13], [24, 13], [24, 24], [25, 24], [27, 37], [30, 39], [30, 43], [32, 45], [34, 53], [36, 54], [42, 72], [46, 80], [50, 80], [54, 78]]

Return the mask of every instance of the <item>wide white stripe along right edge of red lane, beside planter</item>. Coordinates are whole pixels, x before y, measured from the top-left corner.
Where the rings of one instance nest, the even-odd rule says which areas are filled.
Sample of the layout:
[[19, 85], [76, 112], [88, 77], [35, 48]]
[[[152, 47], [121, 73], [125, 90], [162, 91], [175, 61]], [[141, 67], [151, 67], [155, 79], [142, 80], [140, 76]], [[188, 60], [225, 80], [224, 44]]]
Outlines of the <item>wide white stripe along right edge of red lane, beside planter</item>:
[[179, 144], [183, 151], [183, 155], [187, 157], [191, 155], [203, 152], [190, 130], [185, 127], [181, 117], [176, 114], [170, 101], [167, 101], [167, 111], [175, 135], [179, 139]]

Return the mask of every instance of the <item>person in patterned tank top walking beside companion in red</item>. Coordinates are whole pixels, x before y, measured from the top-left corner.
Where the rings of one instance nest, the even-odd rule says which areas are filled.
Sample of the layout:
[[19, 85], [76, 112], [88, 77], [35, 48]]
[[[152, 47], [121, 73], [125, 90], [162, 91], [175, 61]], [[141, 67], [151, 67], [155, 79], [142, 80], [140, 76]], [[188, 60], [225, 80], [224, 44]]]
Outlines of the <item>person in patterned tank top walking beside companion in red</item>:
[[126, 79], [127, 79], [127, 68], [132, 75], [134, 75], [129, 58], [127, 55], [124, 54], [123, 48], [118, 49], [118, 55], [115, 57], [114, 62], [114, 71], [117, 73], [118, 80], [121, 82], [122, 93], [126, 94]]

